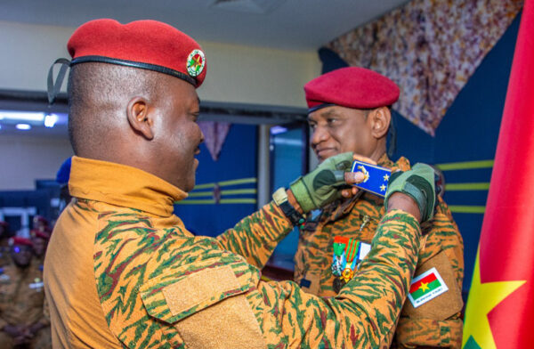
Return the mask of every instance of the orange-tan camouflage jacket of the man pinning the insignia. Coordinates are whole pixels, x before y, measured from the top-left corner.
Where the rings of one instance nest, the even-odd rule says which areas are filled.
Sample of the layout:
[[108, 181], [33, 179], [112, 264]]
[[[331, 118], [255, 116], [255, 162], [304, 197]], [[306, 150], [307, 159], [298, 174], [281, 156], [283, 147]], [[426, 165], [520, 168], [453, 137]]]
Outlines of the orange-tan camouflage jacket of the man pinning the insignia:
[[139, 169], [75, 157], [69, 189], [44, 264], [54, 347], [383, 347], [420, 249], [415, 218], [392, 211], [360, 275], [323, 299], [260, 280], [292, 229], [273, 203], [213, 239], [172, 214], [184, 192]]

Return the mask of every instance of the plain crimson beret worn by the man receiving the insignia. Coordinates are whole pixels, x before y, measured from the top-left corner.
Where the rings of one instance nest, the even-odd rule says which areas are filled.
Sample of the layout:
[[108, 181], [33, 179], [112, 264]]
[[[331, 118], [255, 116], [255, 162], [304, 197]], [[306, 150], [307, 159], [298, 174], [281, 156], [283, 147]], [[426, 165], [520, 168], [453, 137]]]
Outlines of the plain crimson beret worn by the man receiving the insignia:
[[374, 109], [399, 99], [399, 86], [376, 71], [347, 67], [330, 71], [304, 85], [309, 112], [330, 105]]

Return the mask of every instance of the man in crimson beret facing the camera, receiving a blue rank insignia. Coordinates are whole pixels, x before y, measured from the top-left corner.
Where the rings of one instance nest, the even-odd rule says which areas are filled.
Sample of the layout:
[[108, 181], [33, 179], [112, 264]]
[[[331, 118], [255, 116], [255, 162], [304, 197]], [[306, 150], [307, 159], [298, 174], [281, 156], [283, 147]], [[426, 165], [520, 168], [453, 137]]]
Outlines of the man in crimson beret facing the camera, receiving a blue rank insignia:
[[[392, 172], [409, 170], [407, 158], [392, 162], [386, 155], [386, 136], [392, 123], [390, 108], [400, 92], [392, 80], [375, 71], [350, 67], [313, 79], [304, 85], [304, 91], [310, 109], [311, 146], [320, 162], [353, 151], [368, 158], [367, 162], [391, 168]], [[336, 296], [350, 280], [347, 274], [358, 276], [357, 265], [339, 275], [334, 263], [336, 256], [357, 247], [355, 258], [363, 259], [360, 252], [368, 250], [384, 214], [384, 199], [360, 191], [351, 199], [340, 199], [309, 215], [300, 229], [295, 282], [314, 295]], [[433, 275], [441, 278], [449, 290], [425, 301], [417, 302], [414, 296], [409, 296], [392, 347], [459, 347], [463, 242], [441, 197], [433, 219], [423, 224], [422, 229], [425, 248], [419, 255], [416, 282], [410, 293], [417, 292], [420, 286], [417, 277], [426, 278], [432, 268], [436, 271]], [[430, 288], [425, 285], [420, 292], [427, 291], [430, 293]]]

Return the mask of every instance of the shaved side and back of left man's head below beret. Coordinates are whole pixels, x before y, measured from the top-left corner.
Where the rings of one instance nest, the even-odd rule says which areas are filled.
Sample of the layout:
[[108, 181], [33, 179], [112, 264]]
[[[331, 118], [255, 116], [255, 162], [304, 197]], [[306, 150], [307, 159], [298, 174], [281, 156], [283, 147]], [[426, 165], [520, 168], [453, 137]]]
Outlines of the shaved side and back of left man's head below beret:
[[[108, 63], [83, 63], [69, 75], [69, 137], [76, 155], [109, 150], [124, 126], [128, 101], [142, 96], [155, 102], [165, 79], [159, 73]], [[162, 81], [163, 80], [163, 81]]]

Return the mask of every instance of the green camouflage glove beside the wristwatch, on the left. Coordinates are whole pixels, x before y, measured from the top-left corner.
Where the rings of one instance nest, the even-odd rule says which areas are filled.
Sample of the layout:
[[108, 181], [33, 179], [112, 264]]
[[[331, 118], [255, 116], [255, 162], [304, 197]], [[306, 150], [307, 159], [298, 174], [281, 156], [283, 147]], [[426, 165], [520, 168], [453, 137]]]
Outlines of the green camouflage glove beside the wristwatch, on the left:
[[344, 173], [351, 170], [352, 152], [327, 158], [308, 175], [299, 177], [289, 188], [304, 213], [322, 207], [341, 197]]

